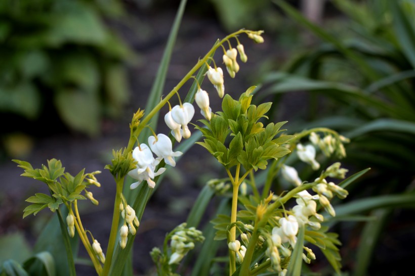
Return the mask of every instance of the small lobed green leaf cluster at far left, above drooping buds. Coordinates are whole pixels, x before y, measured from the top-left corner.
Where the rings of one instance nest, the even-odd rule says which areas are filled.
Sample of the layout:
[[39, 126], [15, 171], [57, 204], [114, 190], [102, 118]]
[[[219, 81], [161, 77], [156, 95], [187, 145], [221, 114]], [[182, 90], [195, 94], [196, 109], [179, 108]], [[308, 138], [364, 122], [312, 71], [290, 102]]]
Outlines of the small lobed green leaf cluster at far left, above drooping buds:
[[81, 195], [87, 186], [90, 185], [85, 179], [85, 169], [82, 169], [77, 175], [72, 176], [68, 172], [64, 172], [60, 160], [48, 160], [48, 166], [42, 165], [40, 169], [33, 169], [32, 165], [26, 161], [13, 160], [18, 163], [18, 167], [24, 169], [22, 176], [30, 177], [47, 184], [51, 196], [43, 193], [36, 193], [34, 196], [26, 199], [32, 203], [23, 210], [23, 218], [48, 207], [55, 212], [62, 203], [71, 203], [74, 200], [86, 199]]

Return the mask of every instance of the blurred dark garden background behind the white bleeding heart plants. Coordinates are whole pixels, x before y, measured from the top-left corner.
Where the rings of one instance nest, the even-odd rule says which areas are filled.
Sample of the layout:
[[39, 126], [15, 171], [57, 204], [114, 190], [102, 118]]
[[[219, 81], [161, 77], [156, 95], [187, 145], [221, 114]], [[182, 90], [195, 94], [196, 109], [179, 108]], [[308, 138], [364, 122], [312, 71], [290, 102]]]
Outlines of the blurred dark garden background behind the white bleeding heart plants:
[[[82, 211], [86, 228], [106, 241], [115, 185], [104, 166], [112, 149], [128, 143], [133, 113], [145, 108], [179, 4], [0, 2], [0, 264], [36, 252], [52, 217], [41, 211], [22, 219], [24, 200], [43, 187], [21, 177], [12, 159], [40, 167], [56, 158], [69, 172], [101, 170], [100, 204]], [[415, 258], [415, 1], [188, 1], [165, 83], [157, 85], [170, 91], [218, 38], [240, 28], [264, 30], [265, 42], [241, 38], [247, 66], [235, 79], [225, 76], [227, 93], [257, 85], [254, 101], [273, 102], [270, 120], [288, 120], [288, 134], [332, 128], [351, 139], [342, 160], [349, 175], [370, 167], [348, 187], [335, 208], [339, 222], [330, 225], [343, 243], [345, 275], [406, 274]], [[219, 100], [211, 106], [218, 110]], [[138, 229], [137, 275], [151, 275], [152, 247], [186, 220], [206, 181], [224, 175], [197, 145], [168, 171]], [[300, 171], [302, 179], [313, 176]], [[275, 193], [285, 184], [277, 176]], [[79, 275], [94, 271], [81, 258], [77, 268]], [[311, 270], [332, 273], [324, 261]]]

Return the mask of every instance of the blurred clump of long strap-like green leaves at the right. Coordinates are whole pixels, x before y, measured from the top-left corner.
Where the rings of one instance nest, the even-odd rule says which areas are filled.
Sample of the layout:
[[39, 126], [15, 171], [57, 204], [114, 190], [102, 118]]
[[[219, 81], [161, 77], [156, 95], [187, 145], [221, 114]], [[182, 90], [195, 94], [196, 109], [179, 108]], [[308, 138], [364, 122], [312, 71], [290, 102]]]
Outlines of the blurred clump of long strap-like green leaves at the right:
[[[352, 141], [346, 147], [345, 164], [372, 168], [364, 185], [356, 182], [349, 189], [356, 201], [339, 207], [349, 214], [371, 210], [377, 217], [364, 224], [358, 254], [353, 257], [354, 272], [366, 275], [383, 229], [391, 225], [386, 223], [393, 219], [391, 205], [407, 207], [413, 195], [410, 184], [415, 156], [410, 149], [415, 141], [415, 3], [335, 0], [349, 20], [344, 38], [332, 34], [328, 25], [323, 28], [308, 21], [287, 1], [274, 2], [322, 42], [270, 73], [258, 98], [272, 95], [278, 102], [283, 93], [309, 91], [306, 107], [310, 116], [296, 121], [292, 129], [333, 128]], [[319, 144], [323, 140], [317, 137], [314, 141]], [[320, 155], [324, 154], [321, 151]], [[300, 174], [307, 175], [307, 171]], [[371, 197], [361, 200], [367, 195]], [[399, 269], [393, 267], [391, 273]]]

